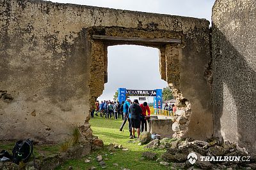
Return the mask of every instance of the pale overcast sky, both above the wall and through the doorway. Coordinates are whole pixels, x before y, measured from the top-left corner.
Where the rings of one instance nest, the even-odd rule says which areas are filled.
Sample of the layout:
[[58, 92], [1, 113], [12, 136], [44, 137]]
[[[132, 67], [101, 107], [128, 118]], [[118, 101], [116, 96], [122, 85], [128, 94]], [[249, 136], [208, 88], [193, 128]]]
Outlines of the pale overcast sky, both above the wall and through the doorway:
[[[84, 4], [132, 11], [163, 13], [211, 21], [214, 0], [51, 0], [54, 3]], [[108, 47], [108, 83], [98, 99], [113, 100], [118, 87], [126, 89], [163, 89], [166, 81], [159, 73], [159, 50], [145, 46]], [[150, 102], [152, 99], [150, 99]]]

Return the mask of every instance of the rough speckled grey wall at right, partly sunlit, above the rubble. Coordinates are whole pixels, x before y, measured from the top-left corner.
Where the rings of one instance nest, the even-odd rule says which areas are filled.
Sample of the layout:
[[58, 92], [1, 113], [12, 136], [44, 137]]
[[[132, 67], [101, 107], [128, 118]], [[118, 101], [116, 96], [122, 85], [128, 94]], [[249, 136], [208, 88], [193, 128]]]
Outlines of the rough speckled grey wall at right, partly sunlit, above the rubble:
[[256, 152], [256, 1], [212, 8], [214, 132]]

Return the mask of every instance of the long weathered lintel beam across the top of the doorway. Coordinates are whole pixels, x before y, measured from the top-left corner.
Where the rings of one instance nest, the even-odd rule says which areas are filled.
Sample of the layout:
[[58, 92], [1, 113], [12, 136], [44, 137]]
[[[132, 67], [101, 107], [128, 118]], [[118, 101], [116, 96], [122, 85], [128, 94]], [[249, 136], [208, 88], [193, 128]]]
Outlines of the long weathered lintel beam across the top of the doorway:
[[181, 39], [165, 39], [165, 38], [138, 38], [138, 37], [122, 37], [122, 36], [99, 36], [93, 35], [93, 39], [109, 40], [109, 41], [129, 41], [140, 43], [181, 43]]

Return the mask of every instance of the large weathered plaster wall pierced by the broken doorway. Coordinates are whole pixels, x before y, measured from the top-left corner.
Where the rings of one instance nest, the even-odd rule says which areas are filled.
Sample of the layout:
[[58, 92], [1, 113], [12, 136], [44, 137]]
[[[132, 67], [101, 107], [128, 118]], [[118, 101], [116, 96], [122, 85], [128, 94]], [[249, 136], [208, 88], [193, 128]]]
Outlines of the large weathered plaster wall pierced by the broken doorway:
[[207, 20], [36, 0], [0, 0], [0, 25], [1, 139], [26, 136], [61, 141], [74, 126], [92, 138], [89, 113], [106, 82], [106, 47], [116, 45], [96, 41], [92, 35], [161, 38], [161, 32], [167, 32], [165, 37], [182, 39], [180, 45], [157, 48], [166, 52], [160, 55], [161, 64], [165, 64], [161, 77], [191, 103], [185, 134], [196, 139], [212, 135], [211, 85], [204, 76], [211, 61]]

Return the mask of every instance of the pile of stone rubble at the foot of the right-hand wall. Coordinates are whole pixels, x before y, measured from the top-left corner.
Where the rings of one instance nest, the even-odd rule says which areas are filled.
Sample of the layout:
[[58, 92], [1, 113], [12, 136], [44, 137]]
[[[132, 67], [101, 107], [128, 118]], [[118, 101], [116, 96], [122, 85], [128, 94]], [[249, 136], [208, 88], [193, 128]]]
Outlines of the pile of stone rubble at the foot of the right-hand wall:
[[[157, 161], [172, 162], [173, 167], [181, 169], [256, 169], [256, 156], [248, 153], [245, 148], [241, 148], [233, 143], [220, 143], [216, 139], [209, 141], [198, 141], [191, 138], [174, 139], [164, 138], [155, 139], [148, 143], [145, 148], [162, 148], [166, 152]], [[188, 160], [189, 153], [195, 153], [197, 159], [195, 164]], [[148, 156], [149, 155], [149, 156]], [[225, 157], [244, 157], [250, 161], [224, 161]], [[143, 153], [143, 157], [152, 157], [151, 153]], [[210, 161], [205, 161], [209, 157]], [[156, 159], [156, 157], [154, 157]], [[203, 161], [202, 161], [203, 160]]]

